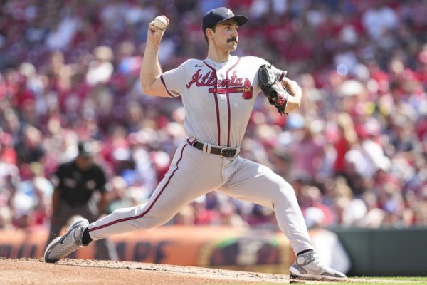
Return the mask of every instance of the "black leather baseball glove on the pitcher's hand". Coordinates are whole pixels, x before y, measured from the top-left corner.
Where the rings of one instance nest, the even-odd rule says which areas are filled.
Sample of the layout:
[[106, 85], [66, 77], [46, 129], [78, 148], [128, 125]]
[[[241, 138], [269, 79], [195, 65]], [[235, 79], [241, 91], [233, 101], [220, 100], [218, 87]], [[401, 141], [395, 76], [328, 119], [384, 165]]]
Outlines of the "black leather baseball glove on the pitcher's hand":
[[288, 115], [288, 113], [285, 113], [285, 108], [290, 93], [275, 76], [271, 66], [266, 64], [260, 66], [258, 70], [258, 79], [260, 81], [261, 90], [263, 90], [264, 95], [268, 98], [268, 103], [275, 106], [280, 115]]

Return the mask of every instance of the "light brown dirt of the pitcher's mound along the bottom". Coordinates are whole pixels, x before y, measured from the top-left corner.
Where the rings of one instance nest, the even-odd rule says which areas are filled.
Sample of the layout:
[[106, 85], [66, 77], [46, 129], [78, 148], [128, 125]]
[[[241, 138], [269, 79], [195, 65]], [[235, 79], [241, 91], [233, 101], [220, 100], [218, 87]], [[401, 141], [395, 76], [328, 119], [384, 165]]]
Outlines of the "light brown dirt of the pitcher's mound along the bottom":
[[[349, 283], [360, 281], [350, 279]], [[364, 280], [366, 282], [366, 280]], [[375, 281], [371, 281], [375, 282]], [[189, 266], [144, 264], [127, 261], [62, 259], [46, 264], [43, 259], [0, 258], [0, 285], [202, 285], [202, 284], [288, 284], [315, 283], [293, 281], [288, 275], [263, 274]]]

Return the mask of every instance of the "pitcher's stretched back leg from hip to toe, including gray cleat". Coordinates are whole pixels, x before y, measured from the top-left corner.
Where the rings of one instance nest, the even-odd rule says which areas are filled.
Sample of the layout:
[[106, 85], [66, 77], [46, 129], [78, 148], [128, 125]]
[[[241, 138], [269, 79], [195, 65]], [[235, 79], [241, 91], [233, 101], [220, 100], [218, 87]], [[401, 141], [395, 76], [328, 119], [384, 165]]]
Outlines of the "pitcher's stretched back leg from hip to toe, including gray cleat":
[[77, 219], [63, 237], [53, 239], [44, 252], [46, 262], [56, 262], [92, 240], [112, 234], [149, 229], [164, 224], [176, 212], [196, 197], [215, 190], [223, 184], [222, 157], [206, 155], [191, 145], [182, 144], [169, 167], [167, 175], [147, 204], [120, 209], [92, 224]]

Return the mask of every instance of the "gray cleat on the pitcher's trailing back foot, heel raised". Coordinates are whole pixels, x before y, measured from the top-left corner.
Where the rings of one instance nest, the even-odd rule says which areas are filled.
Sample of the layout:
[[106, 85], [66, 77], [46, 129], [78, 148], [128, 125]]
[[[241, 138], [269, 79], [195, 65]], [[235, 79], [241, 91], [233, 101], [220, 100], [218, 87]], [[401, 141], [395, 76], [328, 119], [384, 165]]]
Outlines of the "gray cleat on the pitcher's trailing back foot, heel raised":
[[53, 241], [46, 247], [44, 259], [48, 263], [54, 263], [63, 259], [75, 249], [79, 247], [86, 247], [87, 244], [82, 243], [83, 231], [88, 227], [89, 222], [87, 219], [75, 219], [71, 223], [68, 231], [62, 236], [53, 239]]

